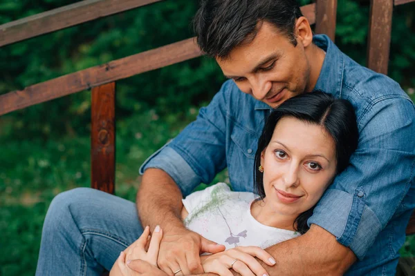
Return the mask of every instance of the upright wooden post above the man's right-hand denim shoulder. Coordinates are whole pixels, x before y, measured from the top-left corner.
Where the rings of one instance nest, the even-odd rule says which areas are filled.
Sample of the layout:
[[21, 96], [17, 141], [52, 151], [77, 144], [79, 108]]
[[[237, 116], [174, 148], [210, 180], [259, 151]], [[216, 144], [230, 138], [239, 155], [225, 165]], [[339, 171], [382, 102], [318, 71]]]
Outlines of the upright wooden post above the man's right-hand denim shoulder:
[[371, 0], [367, 67], [387, 75], [394, 0]]

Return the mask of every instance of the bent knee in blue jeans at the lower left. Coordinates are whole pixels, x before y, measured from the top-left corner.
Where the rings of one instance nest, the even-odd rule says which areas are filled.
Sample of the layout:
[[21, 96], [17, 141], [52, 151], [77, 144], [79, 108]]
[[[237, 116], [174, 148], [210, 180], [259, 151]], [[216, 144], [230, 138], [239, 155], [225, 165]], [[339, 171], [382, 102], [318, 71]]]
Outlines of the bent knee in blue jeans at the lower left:
[[141, 233], [133, 202], [92, 188], [68, 190], [49, 206], [36, 275], [100, 275]]

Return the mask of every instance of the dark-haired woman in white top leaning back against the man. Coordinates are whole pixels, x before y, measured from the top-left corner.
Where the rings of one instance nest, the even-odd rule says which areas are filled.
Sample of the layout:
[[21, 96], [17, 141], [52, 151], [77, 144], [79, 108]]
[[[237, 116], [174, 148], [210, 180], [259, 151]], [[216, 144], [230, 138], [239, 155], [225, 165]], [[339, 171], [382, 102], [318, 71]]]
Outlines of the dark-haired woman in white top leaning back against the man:
[[[261, 248], [306, 233], [315, 204], [335, 175], [347, 168], [357, 145], [356, 115], [349, 101], [313, 92], [282, 103], [268, 117], [259, 138], [254, 170], [257, 195], [216, 184], [183, 199], [185, 226], [227, 249], [201, 256], [205, 272], [232, 275], [233, 268], [243, 275], [252, 275], [250, 271], [267, 275], [252, 256], [273, 265], [275, 261]], [[127, 259], [145, 259], [156, 268], [162, 233], [155, 234], [151, 254], [145, 254], [149, 259], [134, 255], [131, 248], [126, 250]], [[146, 228], [133, 248], [145, 252], [143, 241], [148, 235]], [[125, 258], [122, 254], [114, 268], [129, 271]], [[172, 273], [181, 275], [179, 269]], [[116, 274], [111, 270], [111, 275]]]

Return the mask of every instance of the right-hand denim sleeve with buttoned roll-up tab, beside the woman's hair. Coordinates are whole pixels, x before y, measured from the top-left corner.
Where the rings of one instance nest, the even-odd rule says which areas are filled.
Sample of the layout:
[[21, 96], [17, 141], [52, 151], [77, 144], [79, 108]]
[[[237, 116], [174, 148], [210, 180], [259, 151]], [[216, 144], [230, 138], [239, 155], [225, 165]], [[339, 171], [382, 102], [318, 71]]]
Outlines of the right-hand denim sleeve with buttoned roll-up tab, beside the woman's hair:
[[358, 117], [359, 146], [335, 178], [308, 224], [335, 235], [362, 260], [393, 217], [414, 178], [414, 105], [382, 99]]

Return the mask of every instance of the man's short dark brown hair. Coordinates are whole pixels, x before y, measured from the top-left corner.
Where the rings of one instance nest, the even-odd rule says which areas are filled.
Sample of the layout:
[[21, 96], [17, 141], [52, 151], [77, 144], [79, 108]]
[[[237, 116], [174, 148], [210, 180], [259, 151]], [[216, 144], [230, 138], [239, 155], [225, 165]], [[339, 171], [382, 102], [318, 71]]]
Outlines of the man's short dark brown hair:
[[201, 0], [194, 17], [197, 43], [210, 57], [225, 59], [230, 51], [250, 43], [258, 23], [272, 23], [297, 46], [295, 20], [302, 17], [296, 0]]

